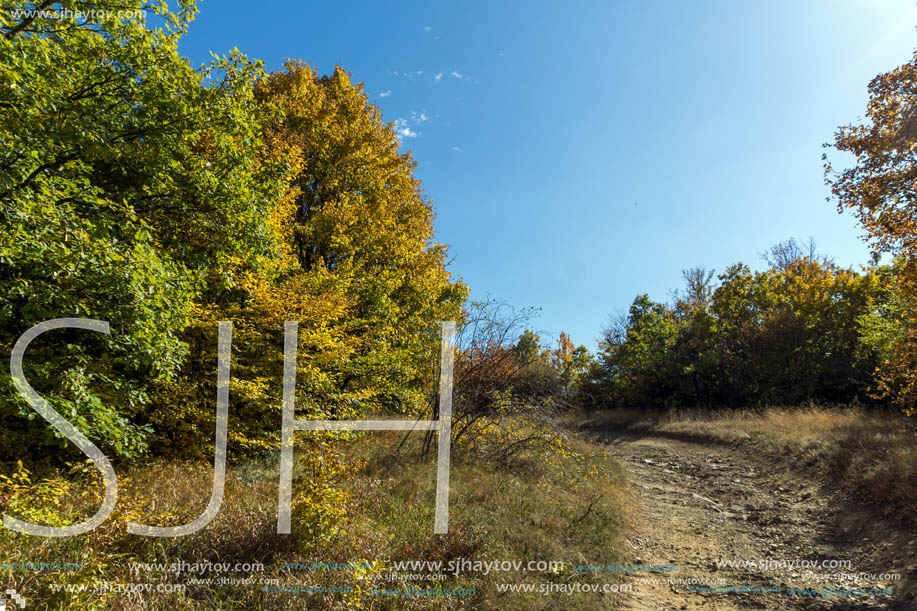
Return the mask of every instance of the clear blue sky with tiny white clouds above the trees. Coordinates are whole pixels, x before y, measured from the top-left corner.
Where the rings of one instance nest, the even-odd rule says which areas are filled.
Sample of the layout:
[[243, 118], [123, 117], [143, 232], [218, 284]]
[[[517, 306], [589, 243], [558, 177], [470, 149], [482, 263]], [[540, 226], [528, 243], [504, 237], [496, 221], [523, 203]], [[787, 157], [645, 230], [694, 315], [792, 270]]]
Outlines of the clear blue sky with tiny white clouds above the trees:
[[906, 0], [200, 8], [182, 46], [196, 63], [238, 47], [365, 83], [407, 130], [472, 297], [540, 307], [545, 339], [590, 349], [688, 267], [760, 267], [810, 236], [865, 263], [855, 220], [825, 201], [821, 145], [917, 42]]

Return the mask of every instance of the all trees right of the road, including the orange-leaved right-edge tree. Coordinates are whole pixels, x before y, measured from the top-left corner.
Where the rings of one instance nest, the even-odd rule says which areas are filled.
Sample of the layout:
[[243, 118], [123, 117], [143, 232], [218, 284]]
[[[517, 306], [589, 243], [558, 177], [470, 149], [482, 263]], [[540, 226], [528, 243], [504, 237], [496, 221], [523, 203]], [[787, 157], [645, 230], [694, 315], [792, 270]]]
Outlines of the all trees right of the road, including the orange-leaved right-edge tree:
[[580, 384], [591, 406], [890, 403], [917, 414], [917, 52], [869, 83], [865, 120], [823, 156], [838, 210], [860, 221], [889, 265], [840, 269], [796, 242], [771, 266], [700, 269], [673, 304], [634, 300]]

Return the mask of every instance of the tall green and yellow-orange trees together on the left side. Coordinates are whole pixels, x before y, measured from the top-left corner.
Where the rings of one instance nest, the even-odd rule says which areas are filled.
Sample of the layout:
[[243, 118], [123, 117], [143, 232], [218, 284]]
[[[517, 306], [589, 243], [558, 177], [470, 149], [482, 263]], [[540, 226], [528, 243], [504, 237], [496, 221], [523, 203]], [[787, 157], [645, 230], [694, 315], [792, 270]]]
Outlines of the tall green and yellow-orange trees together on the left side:
[[[467, 288], [362, 86], [238, 51], [194, 68], [193, 2], [38, 4], [0, 3], [0, 352], [54, 318], [111, 334], [40, 336], [36, 390], [111, 456], [209, 455], [231, 320], [230, 444], [274, 448], [296, 320], [299, 418], [423, 409]], [[74, 452], [6, 367], [0, 388], [0, 459]]]

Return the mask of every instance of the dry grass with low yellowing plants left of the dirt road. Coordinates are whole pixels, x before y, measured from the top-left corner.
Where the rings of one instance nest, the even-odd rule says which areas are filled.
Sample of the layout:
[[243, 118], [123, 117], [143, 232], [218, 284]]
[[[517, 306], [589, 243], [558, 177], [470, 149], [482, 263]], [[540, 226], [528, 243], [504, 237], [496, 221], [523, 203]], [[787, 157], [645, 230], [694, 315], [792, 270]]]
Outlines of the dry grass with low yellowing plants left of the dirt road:
[[[435, 459], [421, 457], [420, 435], [400, 451], [398, 433], [372, 433], [335, 444], [344, 460], [360, 466], [339, 486], [351, 503], [342, 512], [342, 531], [315, 536], [294, 520], [291, 535], [277, 535], [277, 464], [231, 465], [223, 506], [203, 530], [187, 537], [128, 535], [125, 521], [181, 524], [195, 518], [210, 495], [212, 469], [204, 463], [158, 462], [122, 475], [118, 510], [105, 525], [67, 539], [44, 539], [0, 531], [0, 562], [83, 562], [79, 571], [6, 571], [4, 587], [24, 594], [29, 609], [596, 609], [610, 599], [592, 595], [499, 594], [498, 583], [590, 581], [572, 563], [623, 560], [624, 491], [618, 467], [600, 445], [574, 442], [563, 452], [533, 455], [514, 468], [456, 456], [451, 470], [450, 530], [432, 534]], [[434, 453], [435, 454], [435, 453]], [[365, 458], [365, 463], [361, 460]], [[300, 473], [301, 476], [308, 474]], [[130, 480], [127, 482], [126, 480]], [[80, 482], [79, 486], [91, 482]], [[78, 488], [77, 486], [76, 488]], [[74, 489], [76, 489], [74, 488]], [[96, 491], [98, 492], [98, 491]], [[71, 495], [55, 510], [82, 519], [98, 495]], [[294, 516], [296, 510], [294, 509]], [[322, 533], [318, 533], [321, 535]], [[473, 571], [444, 581], [390, 581], [397, 560], [563, 560], [554, 574]], [[371, 570], [310, 571], [285, 563], [348, 563], [369, 560]], [[176, 576], [131, 574], [128, 563], [252, 563], [264, 571]], [[55, 593], [51, 584], [185, 583], [191, 577], [253, 578], [254, 584], [189, 585], [186, 593]], [[265, 592], [260, 579], [280, 586], [349, 587], [341, 593]], [[473, 596], [439, 598], [371, 595], [372, 588], [469, 588]]]

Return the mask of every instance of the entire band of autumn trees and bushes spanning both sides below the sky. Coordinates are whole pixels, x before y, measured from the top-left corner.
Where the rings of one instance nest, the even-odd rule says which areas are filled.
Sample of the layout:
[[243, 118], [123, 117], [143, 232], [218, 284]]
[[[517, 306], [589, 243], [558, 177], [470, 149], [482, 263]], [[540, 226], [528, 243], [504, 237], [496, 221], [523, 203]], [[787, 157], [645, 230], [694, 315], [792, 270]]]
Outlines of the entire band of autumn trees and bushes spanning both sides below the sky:
[[[575, 401], [917, 406], [917, 59], [870, 84], [868, 124], [838, 131], [857, 164], [826, 165], [895, 263], [841, 269], [788, 243], [762, 272], [692, 270], [672, 304], [638, 297], [592, 359], [513, 320], [475, 324], [415, 162], [343, 69], [267, 73], [237, 50], [195, 68], [178, 52], [191, 0], [55, 6], [0, 2], [0, 352], [49, 319], [108, 321], [48, 332], [25, 359], [107, 454], [209, 454], [220, 320], [243, 451], [278, 444], [285, 320], [301, 418], [428, 413], [441, 320], [474, 338], [456, 363], [469, 432]], [[0, 388], [0, 460], [73, 451], [5, 367]]]

